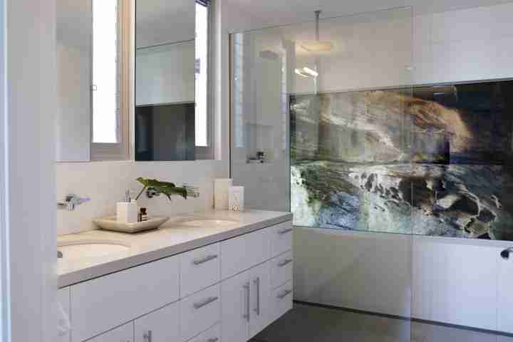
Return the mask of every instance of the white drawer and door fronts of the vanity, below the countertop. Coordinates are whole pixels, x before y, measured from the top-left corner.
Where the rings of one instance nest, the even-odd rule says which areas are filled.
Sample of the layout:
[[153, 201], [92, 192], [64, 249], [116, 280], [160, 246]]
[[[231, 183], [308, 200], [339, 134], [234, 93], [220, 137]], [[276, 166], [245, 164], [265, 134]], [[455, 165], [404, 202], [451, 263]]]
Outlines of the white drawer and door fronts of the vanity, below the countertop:
[[288, 221], [62, 289], [71, 342], [247, 342], [291, 309], [291, 237]]

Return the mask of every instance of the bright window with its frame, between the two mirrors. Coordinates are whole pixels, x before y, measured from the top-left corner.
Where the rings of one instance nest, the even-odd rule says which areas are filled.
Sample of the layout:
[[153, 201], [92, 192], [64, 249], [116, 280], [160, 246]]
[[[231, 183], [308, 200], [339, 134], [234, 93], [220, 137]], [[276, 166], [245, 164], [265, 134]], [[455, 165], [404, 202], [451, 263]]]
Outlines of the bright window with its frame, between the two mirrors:
[[93, 0], [92, 160], [128, 159], [129, 2]]

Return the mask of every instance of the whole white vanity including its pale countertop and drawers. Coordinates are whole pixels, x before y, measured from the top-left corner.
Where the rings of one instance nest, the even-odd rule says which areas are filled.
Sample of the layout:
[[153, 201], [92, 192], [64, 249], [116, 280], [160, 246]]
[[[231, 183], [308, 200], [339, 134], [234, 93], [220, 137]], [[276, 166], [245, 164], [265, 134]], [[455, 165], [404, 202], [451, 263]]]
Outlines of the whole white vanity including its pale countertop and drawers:
[[292, 232], [291, 214], [251, 210], [175, 217], [142, 234], [60, 237], [60, 246], [126, 248], [64, 252], [58, 299], [71, 331], [59, 342], [248, 341], [292, 307]]

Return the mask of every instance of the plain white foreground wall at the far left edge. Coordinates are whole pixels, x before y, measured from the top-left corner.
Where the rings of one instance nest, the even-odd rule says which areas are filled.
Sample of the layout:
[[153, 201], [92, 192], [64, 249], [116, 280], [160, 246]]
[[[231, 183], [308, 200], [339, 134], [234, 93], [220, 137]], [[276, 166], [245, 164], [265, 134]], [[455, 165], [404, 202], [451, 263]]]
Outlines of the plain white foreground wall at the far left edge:
[[[55, 341], [55, 1], [0, 1], [2, 341]], [[8, 267], [8, 268], [7, 268]]]

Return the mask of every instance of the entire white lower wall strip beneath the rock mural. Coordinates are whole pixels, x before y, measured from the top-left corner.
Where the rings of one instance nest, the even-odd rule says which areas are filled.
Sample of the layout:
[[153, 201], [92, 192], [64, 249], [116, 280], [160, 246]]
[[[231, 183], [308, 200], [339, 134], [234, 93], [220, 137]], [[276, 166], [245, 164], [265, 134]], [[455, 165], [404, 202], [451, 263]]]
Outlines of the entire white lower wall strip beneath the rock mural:
[[510, 242], [296, 227], [296, 300], [513, 332]]

